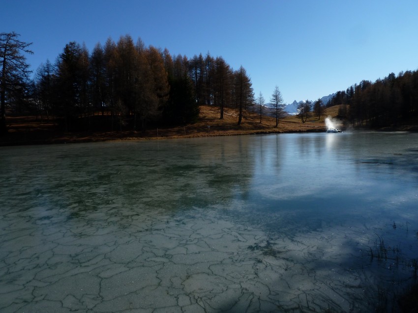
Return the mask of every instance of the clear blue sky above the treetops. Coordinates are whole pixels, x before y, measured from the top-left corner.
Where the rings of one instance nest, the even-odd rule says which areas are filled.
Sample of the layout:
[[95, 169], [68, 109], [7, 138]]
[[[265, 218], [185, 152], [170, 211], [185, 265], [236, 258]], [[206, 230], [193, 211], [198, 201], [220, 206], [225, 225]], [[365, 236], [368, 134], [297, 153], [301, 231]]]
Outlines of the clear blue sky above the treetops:
[[[316, 100], [362, 79], [418, 69], [417, 0], [5, 0], [0, 31], [33, 42], [33, 71], [65, 44], [130, 34], [172, 55], [242, 65], [256, 97]], [[4, 9], [5, 8], [5, 9]]]

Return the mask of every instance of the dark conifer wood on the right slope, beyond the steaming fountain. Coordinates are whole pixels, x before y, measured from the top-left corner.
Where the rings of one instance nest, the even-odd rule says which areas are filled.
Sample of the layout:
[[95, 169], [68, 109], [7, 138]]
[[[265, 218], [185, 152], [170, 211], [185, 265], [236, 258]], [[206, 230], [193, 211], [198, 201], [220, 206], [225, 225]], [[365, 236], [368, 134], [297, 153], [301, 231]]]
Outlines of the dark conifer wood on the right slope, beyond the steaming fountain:
[[328, 106], [354, 126], [386, 127], [402, 124], [418, 114], [418, 71], [390, 73], [375, 82], [362, 80], [338, 91]]

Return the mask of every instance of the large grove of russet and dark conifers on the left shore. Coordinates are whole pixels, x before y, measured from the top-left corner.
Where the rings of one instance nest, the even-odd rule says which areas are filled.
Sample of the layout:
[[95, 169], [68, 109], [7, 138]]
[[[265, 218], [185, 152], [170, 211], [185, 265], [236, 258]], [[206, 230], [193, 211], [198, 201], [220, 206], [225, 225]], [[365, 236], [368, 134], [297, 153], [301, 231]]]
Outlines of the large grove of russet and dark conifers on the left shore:
[[[130, 35], [97, 43], [91, 53], [72, 41], [54, 63], [46, 60], [30, 79], [23, 55], [32, 53], [29, 46], [14, 32], [0, 34], [2, 130], [6, 107], [59, 118], [69, 131], [190, 123], [203, 104], [218, 106], [220, 119], [225, 107], [238, 109], [240, 124], [243, 110], [254, 104], [246, 70], [234, 70], [209, 53], [172, 56], [167, 49], [146, 47], [140, 38], [134, 42]], [[25, 66], [13, 68], [19, 58]]]

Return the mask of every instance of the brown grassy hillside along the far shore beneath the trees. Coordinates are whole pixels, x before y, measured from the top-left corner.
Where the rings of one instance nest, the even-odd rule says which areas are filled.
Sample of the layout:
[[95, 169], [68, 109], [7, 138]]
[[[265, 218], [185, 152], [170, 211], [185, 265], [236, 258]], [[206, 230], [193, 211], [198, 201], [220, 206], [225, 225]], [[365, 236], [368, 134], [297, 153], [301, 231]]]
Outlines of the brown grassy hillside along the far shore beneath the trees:
[[[326, 114], [318, 121], [310, 118], [306, 123], [301, 123], [296, 116], [288, 116], [279, 121], [275, 128], [275, 119], [263, 116], [260, 124], [260, 115], [245, 111], [240, 126], [238, 122], [238, 110], [226, 108], [224, 119], [219, 119], [219, 108], [201, 106], [199, 119], [194, 124], [188, 124], [173, 128], [153, 128], [142, 131], [104, 131], [104, 132], [62, 132], [57, 130], [57, 121], [50, 119], [43, 122], [35, 116], [8, 116], [8, 133], [0, 137], [0, 145], [25, 145], [25, 144], [50, 144], [71, 142], [94, 142], [107, 140], [138, 140], [157, 138], [180, 138], [222, 135], [244, 135], [256, 133], [281, 133], [281, 132], [314, 132], [325, 131], [325, 118], [329, 115], [335, 117], [338, 107], [326, 109]], [[92, 118], [99, 119], [96, 115]]]

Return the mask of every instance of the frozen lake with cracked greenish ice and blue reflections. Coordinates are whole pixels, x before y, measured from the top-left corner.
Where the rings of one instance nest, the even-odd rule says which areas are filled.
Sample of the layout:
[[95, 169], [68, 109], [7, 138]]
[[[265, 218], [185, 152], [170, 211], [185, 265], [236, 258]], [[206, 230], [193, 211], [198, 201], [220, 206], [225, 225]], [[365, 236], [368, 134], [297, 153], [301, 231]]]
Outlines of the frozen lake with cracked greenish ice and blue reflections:
[[417, 133], [2, 147], [0, 311], [392, 308], [417, 203]]

